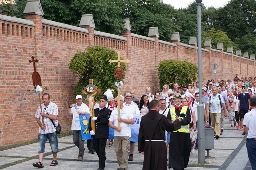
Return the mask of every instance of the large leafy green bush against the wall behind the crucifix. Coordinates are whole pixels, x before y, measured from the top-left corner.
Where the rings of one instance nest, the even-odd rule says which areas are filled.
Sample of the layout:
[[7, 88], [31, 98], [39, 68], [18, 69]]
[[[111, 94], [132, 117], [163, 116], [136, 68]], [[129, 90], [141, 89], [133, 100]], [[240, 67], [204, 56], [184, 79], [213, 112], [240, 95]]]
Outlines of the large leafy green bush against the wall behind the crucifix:
[[[74, 89], [74, 95], [81, 94], [81, 91], [88, 85], [89, 79], [94, 80], [96, 85], [102, 92], [108, 88], [117, 91], [114, 85], [116, 79], [115, 68], [117, 63], [109, 63], [109, 60], [117, 60], [118, 55], [114, 50], [106, 47], [93, 46], [87, 49], [87, 52], [78, 51], [69, 63], [71, 72], [79, 75], [79, 81]], [[121, 58], [121, 60], [123, 60]], [[120, 63], [120, 67], [126, 72], [126, 64]], [[99, 95], [95, 95], [98, 99]]]

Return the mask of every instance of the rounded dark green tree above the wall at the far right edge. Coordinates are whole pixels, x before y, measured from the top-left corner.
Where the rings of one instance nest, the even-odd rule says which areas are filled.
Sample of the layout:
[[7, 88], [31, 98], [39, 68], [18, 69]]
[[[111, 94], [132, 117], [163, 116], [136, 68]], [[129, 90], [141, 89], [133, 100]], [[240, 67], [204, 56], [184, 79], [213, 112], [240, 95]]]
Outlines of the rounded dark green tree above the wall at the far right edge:
[[242, 38], [236, 38], [235, 43], [242, 53], [248, 52], [250, 54], [256, 54], [256, 35], [255, 34], [247, 34]]

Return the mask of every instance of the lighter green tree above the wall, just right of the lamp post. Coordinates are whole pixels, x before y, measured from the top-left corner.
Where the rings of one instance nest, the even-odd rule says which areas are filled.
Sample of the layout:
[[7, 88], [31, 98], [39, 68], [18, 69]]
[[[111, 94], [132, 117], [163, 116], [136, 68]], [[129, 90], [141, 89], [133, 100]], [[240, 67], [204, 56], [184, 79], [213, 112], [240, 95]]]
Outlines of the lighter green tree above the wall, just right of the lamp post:
[[204, 42], [205, 39], [211, 40], [213, 49], [217, 48], [218, 43], [223, 43], [224, 51], [227, 50], [227, 47], [233, 47], [233, 50], [236, 50], [236, 46], [234, 45], [234, 43], [232, 43], [231, 39], [224, 31], [215, 31], [214, 28], [211, 28], [209, 32], [202, 31], [202, 42]]

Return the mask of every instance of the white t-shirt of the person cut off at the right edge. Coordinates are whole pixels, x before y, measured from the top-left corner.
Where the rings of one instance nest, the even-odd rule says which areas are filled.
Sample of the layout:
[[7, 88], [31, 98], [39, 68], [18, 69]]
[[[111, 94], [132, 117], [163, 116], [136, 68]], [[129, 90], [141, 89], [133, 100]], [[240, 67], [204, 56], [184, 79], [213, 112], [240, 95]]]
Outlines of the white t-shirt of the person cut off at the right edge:
[[256, 109], [252, 109], [250, 112], [244, 115], [243, 125], [248, 127], [247, 138], [256, 138]]

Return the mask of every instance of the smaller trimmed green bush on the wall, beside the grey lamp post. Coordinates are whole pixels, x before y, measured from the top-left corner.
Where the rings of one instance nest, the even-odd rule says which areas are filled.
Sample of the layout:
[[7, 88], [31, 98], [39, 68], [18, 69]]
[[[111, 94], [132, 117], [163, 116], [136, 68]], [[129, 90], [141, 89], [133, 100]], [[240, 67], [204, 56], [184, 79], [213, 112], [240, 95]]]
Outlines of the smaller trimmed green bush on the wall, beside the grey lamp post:
[[198, 67], [187, 61], [164, 60], [158, 65], [159, 85], [189, 84], [197, 79]]

